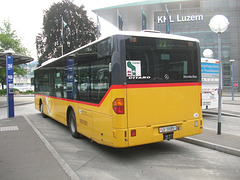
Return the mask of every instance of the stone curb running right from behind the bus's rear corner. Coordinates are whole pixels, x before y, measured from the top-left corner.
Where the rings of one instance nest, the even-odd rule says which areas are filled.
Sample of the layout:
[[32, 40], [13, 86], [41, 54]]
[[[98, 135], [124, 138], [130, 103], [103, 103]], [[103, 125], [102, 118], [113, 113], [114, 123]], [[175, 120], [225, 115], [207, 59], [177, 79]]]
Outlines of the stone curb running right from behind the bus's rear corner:
[[199, 140], [191, 137], [185, 137], [178, 140], [240, 157], [240, 150], [235, 148], [230, 148], [227, 146], [214, 144], [214, 143], [210, 143], [207, 141], [203, 141], [203, 140]]

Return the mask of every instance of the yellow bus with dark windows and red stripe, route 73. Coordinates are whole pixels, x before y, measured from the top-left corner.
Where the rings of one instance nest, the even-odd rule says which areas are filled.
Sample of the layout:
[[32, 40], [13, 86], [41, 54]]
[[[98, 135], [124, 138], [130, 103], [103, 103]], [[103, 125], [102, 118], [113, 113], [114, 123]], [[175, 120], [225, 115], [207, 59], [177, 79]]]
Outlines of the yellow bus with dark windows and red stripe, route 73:
[[202, 133], [197, 39], [118, 32], [35, 70], [35, 108], [73, 137], [123, 148]]

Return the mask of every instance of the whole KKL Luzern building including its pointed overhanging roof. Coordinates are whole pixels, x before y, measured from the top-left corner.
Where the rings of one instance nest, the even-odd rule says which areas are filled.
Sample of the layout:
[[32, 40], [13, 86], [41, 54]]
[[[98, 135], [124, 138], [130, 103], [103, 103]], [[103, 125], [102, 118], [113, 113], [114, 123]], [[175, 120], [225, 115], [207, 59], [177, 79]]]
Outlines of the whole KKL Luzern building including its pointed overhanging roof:
[[[230, 24], [221, 34], [223, 60], [223, 89], [231, 90], [231, 63], [234, 59], [234, 82], [240, 83], [240, 1], [239, 0], [148, 0], [94, 10], [99, 16], [117, 26], [117, 12], [123, 19], [123, 30], [141, 31], [142, 11], [146, 15], [147, 29], [166, 33], [170, 20], [170, 33], [199, 39], [201, 52], [213, 51], [218, 59], [218, 35], [209, 27], [214, 15], [224, 15]], [[238, 87], [238, 91], [240, 88]]]

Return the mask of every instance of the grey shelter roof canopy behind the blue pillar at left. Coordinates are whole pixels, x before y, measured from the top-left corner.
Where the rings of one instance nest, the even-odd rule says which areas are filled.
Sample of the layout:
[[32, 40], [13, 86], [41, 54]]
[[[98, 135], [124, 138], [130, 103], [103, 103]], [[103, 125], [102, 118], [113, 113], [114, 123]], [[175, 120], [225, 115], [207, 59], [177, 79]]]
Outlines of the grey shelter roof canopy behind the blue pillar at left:
[[[13, 54], [13, 65], [26, 64], [33, 61], [32, 57]], [[0, 53], [0, 67], [6, 67], [6, 53]]]

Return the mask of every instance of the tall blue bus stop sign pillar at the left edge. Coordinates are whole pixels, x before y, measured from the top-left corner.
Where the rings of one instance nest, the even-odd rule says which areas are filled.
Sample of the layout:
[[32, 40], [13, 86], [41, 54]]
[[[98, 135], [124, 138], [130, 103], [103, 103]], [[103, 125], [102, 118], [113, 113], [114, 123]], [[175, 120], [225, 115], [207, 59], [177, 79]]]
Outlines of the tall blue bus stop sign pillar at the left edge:
[[13, 57], [6, 56], [6, 83], [8, 100], [8, 117], [14, 117]]

